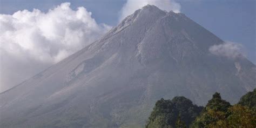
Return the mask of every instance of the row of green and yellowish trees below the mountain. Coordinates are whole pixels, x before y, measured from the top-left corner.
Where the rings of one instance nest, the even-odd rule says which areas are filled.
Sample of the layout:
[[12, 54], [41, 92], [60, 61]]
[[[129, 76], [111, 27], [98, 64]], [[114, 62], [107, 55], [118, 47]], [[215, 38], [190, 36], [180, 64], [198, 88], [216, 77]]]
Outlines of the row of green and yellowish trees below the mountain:
[[160, 99], [156, 102], [147, 121], [151, 127], [256, 127], [256, 89], [242, 96], [231, 105], [214, 93], [205, 107], [194, 105], [185, 97], [172, 100]]

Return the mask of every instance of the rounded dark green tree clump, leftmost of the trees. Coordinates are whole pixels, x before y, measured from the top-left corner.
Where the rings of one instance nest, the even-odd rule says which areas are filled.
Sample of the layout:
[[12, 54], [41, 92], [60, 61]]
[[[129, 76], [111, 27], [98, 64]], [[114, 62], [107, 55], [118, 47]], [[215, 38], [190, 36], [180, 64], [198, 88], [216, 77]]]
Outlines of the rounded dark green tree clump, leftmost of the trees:
[[157, 101], [146, 127], [176, 127], [176, 122], [189, 126], [202, 109], [185, 97], [174, 97], [172, 100], [162, 98]]

